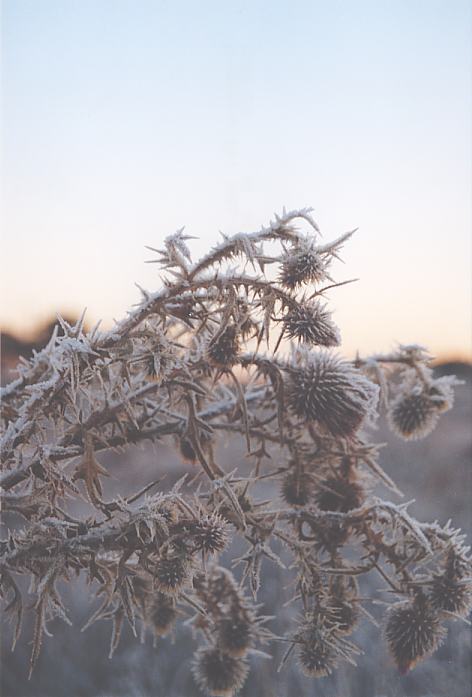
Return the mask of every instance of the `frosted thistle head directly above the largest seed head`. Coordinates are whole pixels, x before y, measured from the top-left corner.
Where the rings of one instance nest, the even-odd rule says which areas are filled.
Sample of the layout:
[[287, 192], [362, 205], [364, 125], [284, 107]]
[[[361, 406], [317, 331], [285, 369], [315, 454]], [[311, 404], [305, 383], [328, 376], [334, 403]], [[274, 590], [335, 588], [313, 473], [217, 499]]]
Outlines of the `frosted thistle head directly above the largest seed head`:
[[284, 333], [314, 346], [339, 346], [341, 337], [337, 326], [319, 302], [294, 304], [283, 318]]

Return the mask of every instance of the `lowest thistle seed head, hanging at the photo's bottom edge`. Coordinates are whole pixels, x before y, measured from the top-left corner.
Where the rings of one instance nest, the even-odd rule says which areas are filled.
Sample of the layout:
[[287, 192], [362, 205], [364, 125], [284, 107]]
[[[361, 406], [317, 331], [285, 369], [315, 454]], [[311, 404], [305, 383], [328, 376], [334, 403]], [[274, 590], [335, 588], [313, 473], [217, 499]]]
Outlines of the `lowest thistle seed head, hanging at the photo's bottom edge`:
[[209, 695], [232, 697], [244, 685], [249, 667], [244, 658], [206, 646], [196, 652], [192, 671], [198, 686]]

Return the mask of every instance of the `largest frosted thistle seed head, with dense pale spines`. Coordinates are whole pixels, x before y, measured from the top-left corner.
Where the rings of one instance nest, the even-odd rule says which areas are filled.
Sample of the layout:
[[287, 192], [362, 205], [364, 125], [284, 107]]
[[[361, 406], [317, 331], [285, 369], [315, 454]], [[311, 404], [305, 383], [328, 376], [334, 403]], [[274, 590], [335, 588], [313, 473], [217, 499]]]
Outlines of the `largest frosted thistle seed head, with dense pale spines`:
[[377, 402], [378, 388], [349, 363], [301, 348], [287, 368], [287, 402], [307, 421], [333, 436], [351, 436]]

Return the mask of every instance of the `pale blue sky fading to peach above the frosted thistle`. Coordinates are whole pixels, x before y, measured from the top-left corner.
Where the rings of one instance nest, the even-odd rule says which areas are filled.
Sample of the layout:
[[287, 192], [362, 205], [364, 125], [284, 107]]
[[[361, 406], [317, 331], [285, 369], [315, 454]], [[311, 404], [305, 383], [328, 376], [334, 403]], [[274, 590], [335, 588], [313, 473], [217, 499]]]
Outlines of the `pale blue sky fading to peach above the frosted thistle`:
[[343, 352], [472, 358], [469, 0], [3, 0], [0, 326], [110, 326], [195, 256], [312, 206]]

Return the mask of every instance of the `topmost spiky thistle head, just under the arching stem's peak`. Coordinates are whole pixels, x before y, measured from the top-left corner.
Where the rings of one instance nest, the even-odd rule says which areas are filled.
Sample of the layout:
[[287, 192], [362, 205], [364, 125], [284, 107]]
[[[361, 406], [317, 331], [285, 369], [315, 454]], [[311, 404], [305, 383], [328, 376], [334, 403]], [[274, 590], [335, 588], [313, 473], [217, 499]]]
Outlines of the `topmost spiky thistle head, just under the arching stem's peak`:
[[302, 241], [283, 257], [279, 280], [290, 289], [304, 283], [321, 283], [329, 278], [328, 263], [312, 241]]

